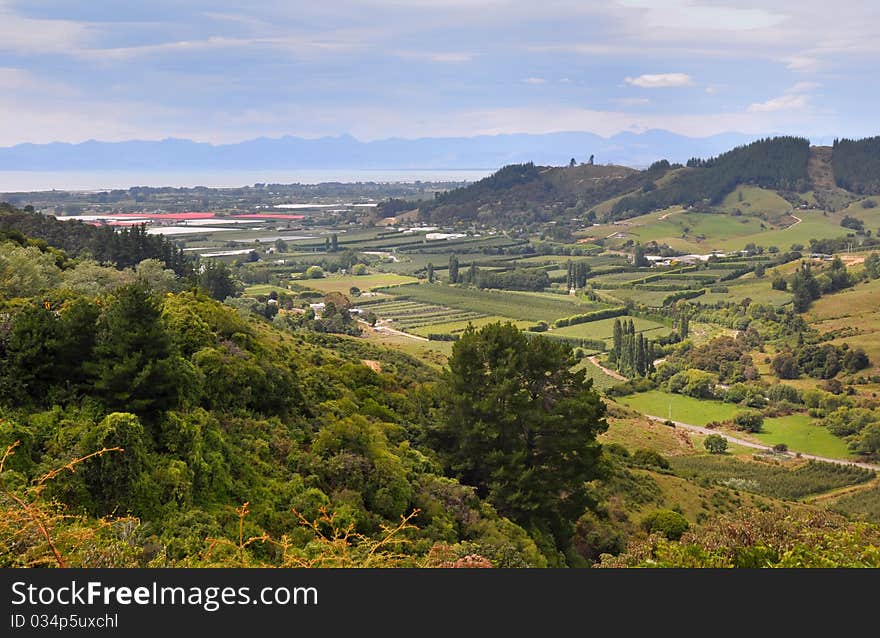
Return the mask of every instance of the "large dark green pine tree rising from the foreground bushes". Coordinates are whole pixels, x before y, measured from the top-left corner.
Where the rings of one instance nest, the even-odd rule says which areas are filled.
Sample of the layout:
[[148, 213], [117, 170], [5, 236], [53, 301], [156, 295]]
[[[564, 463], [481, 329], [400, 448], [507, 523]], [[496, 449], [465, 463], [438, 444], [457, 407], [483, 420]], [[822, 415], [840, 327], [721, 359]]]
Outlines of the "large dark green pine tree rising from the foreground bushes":
[[527, 529], [565, 547], [590, 506], [596, 435], [605, 406], [571, 348], [527, 338], [513, 324], [469, 327], [452, 348], [440, 384], [439, 419], [427, 435], [462, 484]]

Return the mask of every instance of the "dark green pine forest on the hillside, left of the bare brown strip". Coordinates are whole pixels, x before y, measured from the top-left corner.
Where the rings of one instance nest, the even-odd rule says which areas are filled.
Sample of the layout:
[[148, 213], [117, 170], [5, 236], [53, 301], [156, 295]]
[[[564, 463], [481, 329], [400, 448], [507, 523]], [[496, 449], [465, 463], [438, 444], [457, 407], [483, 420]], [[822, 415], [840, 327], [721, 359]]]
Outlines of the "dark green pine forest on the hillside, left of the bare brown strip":
[[809, 140], [775, 137], [740, 146], [718, 157], [695, 158], [688, 162], [692, 170], [683, 172], [665, 186], [616, 202], [611, 216], [624, 219], [674, 204], [719, 204], [739, 184], [803, 191], [809, 186], [809, 156]]

